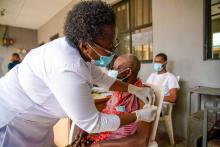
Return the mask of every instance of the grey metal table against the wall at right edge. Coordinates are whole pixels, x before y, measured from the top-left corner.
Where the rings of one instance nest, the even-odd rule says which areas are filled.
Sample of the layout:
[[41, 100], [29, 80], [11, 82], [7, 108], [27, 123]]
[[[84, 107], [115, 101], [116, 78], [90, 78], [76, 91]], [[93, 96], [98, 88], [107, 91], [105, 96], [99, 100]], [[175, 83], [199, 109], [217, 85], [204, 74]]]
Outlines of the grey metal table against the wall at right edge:
[[[212, 88], [212, 87], [204, 87], [204, 86], [197, 86], [197, 87], [194, 87], [192, 89], [189, 90], [189, 115], [188, 115], [188, 139], [187, 139], [187, 146], [190, 146], [190, 121], [192, 119], [193, 116], [196, 116], [196, 115], [192, 115], [191, 114], [191, 104], [192, 104], [192, 94], [197, 94], [198, 95], [198, 99], [199, 99], [199, 110], [202, 109], [202, 105], [201, 105], [201, 99], [202, 99], [202, 95], [206, 95], [206, 96], [215, 96], [215, 103], [214, 103], [214, 107], [217, 107], [217, 104], [218, 104], [218, 101], [217, 99], [220, 99], [220, 88]], [[204, 102], [204, 106], [206, 104], [206, 101]], [[208, 121], [207, 120], [207, 113], [206, 113], [206, 108], [205, 108], [205, 113], [204, 113], [204, 123], [203, 124], [203, 136], [204, 137], [204, 140], [206, 139], [206, 135], [207, 135], [207, 128], [208, 128]], [[198, 113], [198, 112], [196, 112]], [[194, 113], [194, 114], [196, 114]], [[217, 118], [217, 113], [216, 113], [216, 118]], [[207, 141], [207, 140], [206, 140]], [[207, 144], [207, 143], [206, 143]]]

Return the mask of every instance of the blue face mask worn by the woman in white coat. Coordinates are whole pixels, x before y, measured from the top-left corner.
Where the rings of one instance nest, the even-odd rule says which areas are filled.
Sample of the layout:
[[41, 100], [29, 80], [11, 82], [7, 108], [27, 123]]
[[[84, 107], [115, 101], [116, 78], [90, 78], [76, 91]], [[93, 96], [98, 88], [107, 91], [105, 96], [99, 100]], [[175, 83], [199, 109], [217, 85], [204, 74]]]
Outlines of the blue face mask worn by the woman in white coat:
[[[100, 67], [107, 67], [111, 62], [112, 59], [114, 58], [115, 54], [112, 53], [110, 56], [102, 56], [100, 55], [90, 44], [89, 46], [95, 51], [95, 53], [97, 55], [99, 55], [99, 60], [95, 60], [95, 64], [96, 66], [100, 66]], [[88, 55], [89, 56], [89, 55]], [[90, 56], [89, 56], [90, 57]], [[91, 57], [90, 57], [91, 58]], [[92, 58], [91, 58], [92, 59]], [[92, 59], [93, 60], [93, 59]]]

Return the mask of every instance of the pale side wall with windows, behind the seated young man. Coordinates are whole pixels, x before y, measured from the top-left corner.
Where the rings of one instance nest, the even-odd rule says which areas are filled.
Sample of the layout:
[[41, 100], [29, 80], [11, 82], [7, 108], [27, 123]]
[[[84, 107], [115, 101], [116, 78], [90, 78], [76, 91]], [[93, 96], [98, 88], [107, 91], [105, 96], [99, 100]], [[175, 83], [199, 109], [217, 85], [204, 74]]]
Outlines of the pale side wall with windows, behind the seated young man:
[[[67, 6], [38, 30], [38, 43], [63, 34]], [[220, 61], [203, 61], [203, 0], [152, 0], [154, 55], [168, 55], [170, 71], [181, 77], [181, 90], [174, 108], [175, 134], [186, 137], [189, 88], [220, 88]], [[152, 64], [142, 64], [144, 81], [153, 72]], [[178, 109], [177, 109], [178, 108]]]

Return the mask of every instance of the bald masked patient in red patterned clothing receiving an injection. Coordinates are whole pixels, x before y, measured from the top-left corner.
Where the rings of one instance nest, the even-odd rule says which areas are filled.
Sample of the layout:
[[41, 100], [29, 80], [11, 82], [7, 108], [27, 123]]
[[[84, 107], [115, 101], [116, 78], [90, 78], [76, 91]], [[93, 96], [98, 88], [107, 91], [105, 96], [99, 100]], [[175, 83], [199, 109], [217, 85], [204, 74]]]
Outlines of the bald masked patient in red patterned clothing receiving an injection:
[[[141, 87], [143, 86], [142, 82], [137, 78], [139, 70], [140, 62], [136, 56], [122, 55], [115, 60], [113, 71], [111, 72], [114, 74], [113, 77]], [[106, 108], [102, 112], [123, 115], [124, 113], [131, 113], [141, 109], [143, 105], [144, 103], [135, 95], [127, 92], [113, 92]], [[78, 143], [75, 142], [75, 146], [90, 146], [91, 144], [93, 147], [146, 146], [149, 142], [151, 126], [152, 123], [137, 122], [113, 132], [90, 134], [86, 139], [81, 139]]]

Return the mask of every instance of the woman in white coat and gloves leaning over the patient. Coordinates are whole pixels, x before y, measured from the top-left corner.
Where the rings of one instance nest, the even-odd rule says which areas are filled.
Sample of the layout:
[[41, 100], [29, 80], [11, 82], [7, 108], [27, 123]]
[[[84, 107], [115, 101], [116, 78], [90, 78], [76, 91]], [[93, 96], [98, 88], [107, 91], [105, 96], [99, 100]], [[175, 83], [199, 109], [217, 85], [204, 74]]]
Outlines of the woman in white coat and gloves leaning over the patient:
[[154, 119], [153, 106], [117, 116], [98, 112], [93, 103], [93, 84], [128, 91], [144, 102], [152, 99], [151, 89], [127, 85], [96, 67], [108, 65], [116, 48], [115, 15], [109, 5], [79, 3], [67, 16], [64, 34], [31, 50], [0, 79], [0, 147], [49, 147], [53, 125], [64, 117], [92, 133]]

